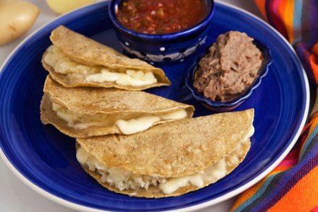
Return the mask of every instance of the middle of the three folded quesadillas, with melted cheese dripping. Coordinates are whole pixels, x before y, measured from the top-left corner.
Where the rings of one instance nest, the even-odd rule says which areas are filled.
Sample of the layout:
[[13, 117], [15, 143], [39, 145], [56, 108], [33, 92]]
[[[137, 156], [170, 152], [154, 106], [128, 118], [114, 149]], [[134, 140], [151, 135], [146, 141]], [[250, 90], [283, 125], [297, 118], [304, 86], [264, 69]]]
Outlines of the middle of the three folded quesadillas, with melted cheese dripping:
[[76, 138], [134, 134], [164, 122], [192, 117], [194, 107], [142, 91], [116, 88], [65, 88], [45, 81], [43, 124]]

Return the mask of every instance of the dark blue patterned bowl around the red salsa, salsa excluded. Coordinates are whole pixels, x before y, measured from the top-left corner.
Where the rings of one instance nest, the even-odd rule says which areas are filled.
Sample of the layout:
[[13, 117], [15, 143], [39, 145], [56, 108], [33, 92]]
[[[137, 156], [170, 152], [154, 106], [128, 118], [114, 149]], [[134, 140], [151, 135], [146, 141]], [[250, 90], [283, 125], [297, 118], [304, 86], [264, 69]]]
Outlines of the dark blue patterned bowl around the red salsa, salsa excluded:
[[139, 57], [151, 64], [182, 62], [186, 57], [196, 52], [206, 41], [206, 35], [214, 13], [213, 0], [205, 0], [208, 13], [200, 23], [177, 33], [163, 35], [136, 33], [125, 28], [116, 18], [120, 1], [112, 0], [108, 11], [119, 42], [126, 53], [132, 57]]

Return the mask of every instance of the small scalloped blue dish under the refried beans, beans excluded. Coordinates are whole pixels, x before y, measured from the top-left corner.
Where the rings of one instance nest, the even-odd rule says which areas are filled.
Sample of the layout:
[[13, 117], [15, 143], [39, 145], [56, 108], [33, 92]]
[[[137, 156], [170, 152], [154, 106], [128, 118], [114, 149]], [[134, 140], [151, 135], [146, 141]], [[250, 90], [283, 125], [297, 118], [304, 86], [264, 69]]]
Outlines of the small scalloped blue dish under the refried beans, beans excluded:
[[204, 107], [206, 107], [208, 110], [212, 110], [214, 112], [228, 112], [230, 110], [234, 110], [236, 107], [241, 105], [242, 102], [247, 100], [247, 98], [249, 98], [250, 95], [252, 95], [253, 90], [258, 88], [259, 85], [261, 85], [261, 80], [269, 72], [269, 65], [272, 62], [271, 51], [266, 45], [263, 45], [258, 40], [254, 39], [253, 42], [254, 42], [254, 45], [256, 45], [261, 50], [261, 53], [263, 56], [261, 68], [259, 69], [259, 76], [254, 80], [252, 85], [249, 86], [249, 88], [247, 90], [245, 90], [245, 92], [241, 93], [240, 95], [238, 95], [237, 97], [235, 97], [231, 100], [226, 100], [226, 101], [222, 101], [222, 102], [213, 101], [213, 100], [210, 100], [210, 99], [204, 97], [204, 95], [199, 93], [194, 88], [194, 86], [193, 86], [194, 75], [196, 73], [196, 69], [198, 68], [199, 60], [202, 57], [204, 57], [204, 55], [201, 55], [201, 57], [198, 57], [198, 59], [196, 59], [196, 63], [194, 63], [194, 65], [192, 65], [189, 68], [189, 72], [188, 72], [187, 80], [186, 80], [186, 86], [191, 91], [194, 98], [196, 100], [198, 100], [199, 102], [201, 102], [201, 104], [204, 105]]

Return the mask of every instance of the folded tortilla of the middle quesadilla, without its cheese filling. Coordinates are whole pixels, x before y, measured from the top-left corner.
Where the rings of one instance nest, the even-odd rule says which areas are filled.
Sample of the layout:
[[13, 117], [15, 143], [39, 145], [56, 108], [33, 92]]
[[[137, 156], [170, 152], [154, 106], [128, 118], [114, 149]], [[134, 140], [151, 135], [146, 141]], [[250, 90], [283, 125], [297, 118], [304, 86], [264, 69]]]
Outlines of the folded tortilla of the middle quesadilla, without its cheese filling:
[[[53, 124], [59, 131], [75, 138], [122, 134], [117, 126], [90, 126], [87, 129], [73, 129], [52, 110], [52, 101], [67, 107], [77, 114], [158, 114], [186, 110], [192, 117], [194, 107], [142, 91], [118, 90], [116, 88], [65, 88], [48, 76], [41, 101], [43, 124]], [[173, 120], [155, 122], [160, 124]]]

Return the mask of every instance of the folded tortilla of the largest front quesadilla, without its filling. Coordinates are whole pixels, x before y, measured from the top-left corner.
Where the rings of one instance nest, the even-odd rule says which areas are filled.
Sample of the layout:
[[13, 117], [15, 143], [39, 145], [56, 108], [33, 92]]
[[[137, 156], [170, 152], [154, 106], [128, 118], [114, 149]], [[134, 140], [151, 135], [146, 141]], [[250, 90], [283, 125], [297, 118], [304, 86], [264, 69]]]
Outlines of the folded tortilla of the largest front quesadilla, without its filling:
[[[105, 167], [116, 167], [134, 175], [175, 179], [207, 170], [220, 160], [225, 161], [225, 175], [228, 175], [249, 151], [253, 119], [254, 110], [228, 112], [168, 122], [129, 136], [107, 135], [76, 141], [77, 147], [81, 146]], [[82, 166], [111, 191], [148, 198], [179, 196], [218, 180], [207, 180], [201, 187], [187, 184], [170, 194], [153, 185], [148, 189], [120, 190], [103, 182], [97, 170]]]

